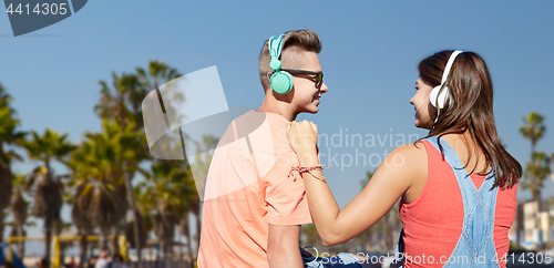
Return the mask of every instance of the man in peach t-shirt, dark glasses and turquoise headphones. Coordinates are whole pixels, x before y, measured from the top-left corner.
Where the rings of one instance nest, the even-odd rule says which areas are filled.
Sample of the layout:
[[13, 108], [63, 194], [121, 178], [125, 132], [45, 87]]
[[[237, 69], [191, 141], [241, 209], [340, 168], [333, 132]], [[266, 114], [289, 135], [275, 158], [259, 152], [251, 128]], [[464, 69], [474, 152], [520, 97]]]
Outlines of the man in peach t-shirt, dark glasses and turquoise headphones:
[[320, 51], [310, 30], [265, 42], [259, 55], [264, 102], [229, 124], [209, 166], [198, 267], [304, 267], [298, 236], [311, 216], [304, 182], [291, 172], [298, 158], [286, 124], [299, 113], [317, 113], [328, 91]]

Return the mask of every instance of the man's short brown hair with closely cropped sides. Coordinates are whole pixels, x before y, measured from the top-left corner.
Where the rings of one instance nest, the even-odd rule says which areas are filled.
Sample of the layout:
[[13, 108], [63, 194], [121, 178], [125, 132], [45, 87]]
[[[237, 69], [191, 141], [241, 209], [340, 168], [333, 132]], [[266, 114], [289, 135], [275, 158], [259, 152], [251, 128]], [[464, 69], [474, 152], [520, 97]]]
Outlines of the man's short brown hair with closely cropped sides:
[[[259, 81], [264, 89], [269, 89], [269, 81], [267, 80], [267, 73], [273, 72], [269, 68], [269, 62], [271, 56], [269, 55], [269, 48], [267, 42], [264, 42], [261, 52], [259, 53]], [[283, 62], [283, 69], [300, 69], [304, 64], [304, 58], [301, 52], [316, 52], [321, 51], [321, 41], [319, 35], [311, 30], [299, 30], [290, 31], [285, 33], [285, 39], [283, 39], [283, 50], [280, 53], [280, 61]]]

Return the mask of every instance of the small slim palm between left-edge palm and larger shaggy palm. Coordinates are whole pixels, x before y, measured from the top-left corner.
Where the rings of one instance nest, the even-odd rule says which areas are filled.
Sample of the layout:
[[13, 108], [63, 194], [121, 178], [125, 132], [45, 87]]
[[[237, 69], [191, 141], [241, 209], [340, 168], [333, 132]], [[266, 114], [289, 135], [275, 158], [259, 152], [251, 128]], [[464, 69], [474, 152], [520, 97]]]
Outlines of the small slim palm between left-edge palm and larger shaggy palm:
[[[23, 198], [23, 187], [25, 184], [25, 176], [16, 175], [13, 179], [16, 192], [11, 196], [11, 213], [13, 215], [13, 229], [16, 230], [16, 236], [25, 236], [24, 225], [29, 216], [29, 203]], [[23, 259], [25, 248], [25, 243], [23, 240], [18, 241], [18, 258]]]

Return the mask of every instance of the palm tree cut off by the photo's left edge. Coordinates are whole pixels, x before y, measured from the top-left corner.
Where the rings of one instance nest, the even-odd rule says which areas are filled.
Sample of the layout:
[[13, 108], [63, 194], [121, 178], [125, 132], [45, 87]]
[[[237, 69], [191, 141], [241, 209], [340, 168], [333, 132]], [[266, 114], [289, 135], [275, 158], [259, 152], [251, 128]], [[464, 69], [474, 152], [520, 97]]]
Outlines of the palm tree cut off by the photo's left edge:
[[16, 111], [10, 106], [11, 96], [0, 84], [0, 241], [3, 240], [4, 209], [10, 205], [12, 192], [11, 162], [22, 161], [10, 146], [18, 145], [18, 142], [25, 135], [19, 132], [20, 120], [16, 117]]

